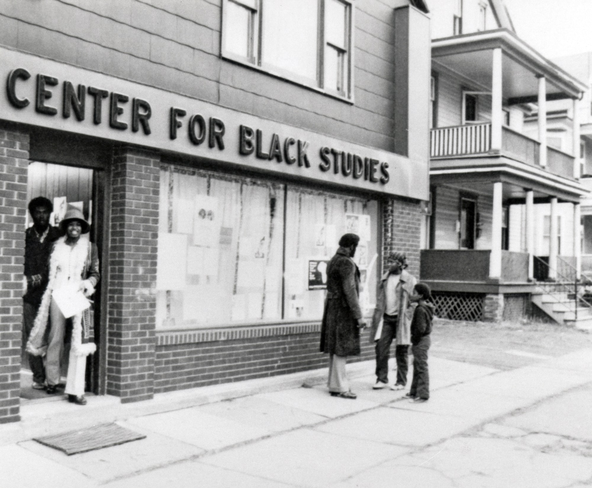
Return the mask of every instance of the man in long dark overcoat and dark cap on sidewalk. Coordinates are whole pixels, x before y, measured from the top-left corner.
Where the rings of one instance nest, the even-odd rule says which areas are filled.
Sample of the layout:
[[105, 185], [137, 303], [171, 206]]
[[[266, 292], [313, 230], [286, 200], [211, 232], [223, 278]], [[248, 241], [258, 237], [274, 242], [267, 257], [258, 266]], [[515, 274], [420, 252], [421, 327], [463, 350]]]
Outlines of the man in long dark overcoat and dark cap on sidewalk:
[[355, 399], [349, 389], [345, 364], [360, 354], [360, 328], [365, 327], [359, 303], [360, 272], [352, 257], [360, 238], [344, 234], [327, 266], [327, 298], [321, 327], [322, 353], [329, 353], [329, 393]]

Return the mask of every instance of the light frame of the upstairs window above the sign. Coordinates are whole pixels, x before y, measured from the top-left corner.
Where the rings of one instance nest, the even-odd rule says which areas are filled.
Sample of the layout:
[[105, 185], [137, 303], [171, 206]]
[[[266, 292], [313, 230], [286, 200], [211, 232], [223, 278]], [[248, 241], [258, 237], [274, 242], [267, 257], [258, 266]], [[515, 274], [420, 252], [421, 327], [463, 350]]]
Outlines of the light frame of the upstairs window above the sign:
[[[273, 66], [269, 63], [262, 62], [262, 53], [265, 46], [262, 45], [263, 39], [263, 15], [265, 15], [265, 0], [222, 0], [222, 15], [221, 15], [221, 35], [220, 35], [220, 57], [222, 59], [226, 59], [233, 63], [241, 64], [242, 66], [249, 67], [250, 69], [257, 70], [262, 73], [266, 73], [268, 75], [278, 77], [282, 80], [285, 80], [290, 83], [295, 83], [296, 85], [304, 86], [307, 89], [311, 89], [318, 93], [323, 93], [324, 95], [330, 96], [337, 100], [341, 100], [348, 104], [354, 104], [354, 96], [353, 96], [353, 67], [355, 66], [354, 63], [354, 46], [355, 46], [355, 4], [353, 0], [337, 0], [342, 4], [346, 5], [346, 50], [347, 53], [347, 66], [345, 67], [346, 73], [344, 76], [344, 82], [347, 85], [347, 89], [345, 92], [340, 93], [338, 91], [334, 91], [331, 89], [324, 88], [324, 47], [327, 44], [324, 40], [325, 37], [325, 27], [324, 27], [324, 11], [325, 11], [325, 2], [327, 0], [317, 0], [318, 1], [318, 27], [317, 27], [317, 66], [316, 72], [317, 77], [316, 80], [311, 80], [304, 76], [298, 76], [297, 74], [282, 69], [280, 67]], [[228, 32], [227, 28], [227, 12], [228, 7], [227, 4], [234, 3], [242, 5], [244, 8], [250, 8], [251, 4], [256, 5], [256, 24], [258, 25], [257, 29], [257, 39], [256, 39], [256, 58], [253, 62], [250, 62], [249, 59], [240, 56], [239, 54], [232, 53], [231, 51], [225, 49], [226, 46], [226, 33]], [[333, 49], [336, 49], [333, 44], [330, 44]], [[341, 48], [338, 48], [341, 49]], [[248, 49], [247, 49], [248, 50]]]

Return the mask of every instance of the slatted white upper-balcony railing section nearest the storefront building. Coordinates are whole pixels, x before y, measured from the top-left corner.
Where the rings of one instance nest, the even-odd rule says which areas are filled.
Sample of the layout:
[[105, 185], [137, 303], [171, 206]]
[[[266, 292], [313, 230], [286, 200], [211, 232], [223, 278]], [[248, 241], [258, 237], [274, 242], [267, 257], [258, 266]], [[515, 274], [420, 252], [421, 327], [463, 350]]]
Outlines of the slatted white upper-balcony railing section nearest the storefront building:
[[462, 156], [487, 153], [491, 148], [491, 122], [430, 131], [430, 156]]

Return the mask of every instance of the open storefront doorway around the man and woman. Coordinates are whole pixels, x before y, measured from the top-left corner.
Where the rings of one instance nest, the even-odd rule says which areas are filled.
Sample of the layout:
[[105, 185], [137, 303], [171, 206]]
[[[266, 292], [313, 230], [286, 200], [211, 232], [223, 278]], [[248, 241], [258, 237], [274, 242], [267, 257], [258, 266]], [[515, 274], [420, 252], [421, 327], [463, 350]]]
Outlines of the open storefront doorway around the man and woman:
[[[53, 203], [53, 212], [50, 215], [50, 225], [59, 227], [68, 208], [76, 207], [82, 211], [86, 221], [91, 224], [88, 238], [95, 243], [99, 250], [99, 258], [102, 257], [102, 228], [103, 228], [103, 186], [104, 171], [85, 167], [70, 166], [66, 164], [44, 163], [32, 161], [28, 166], [27, 202], [38, 196], [43, 196]], [[25, 227], [31, 227], [33, 220], [27, 212]], [[104, 269], [101, 262], [101, 268]], [[94, 341], [97, 351], [87, 358], [85, 391], [98, 393], [101, 370], [101, 281], [96, 287], [92, 297], [94, 302]], [[21, 348], [21, 398], [24, 399], [62, 399], [61, 395], [47, 395], [44, 390], [33, 389], [33, 375], [28, 364], [28, 354], [25, 352], [27, 337], [22, 331]], [[68, 334], [66, 334], [67, 337]], [[65, 384], [67, 373], [67, 359], [69, 356], [69, 343], [66, 339], [62, 355], [62, 371], [60, 372], [60, 384]], [[60, 392], [60, 389], [58, 390]]]

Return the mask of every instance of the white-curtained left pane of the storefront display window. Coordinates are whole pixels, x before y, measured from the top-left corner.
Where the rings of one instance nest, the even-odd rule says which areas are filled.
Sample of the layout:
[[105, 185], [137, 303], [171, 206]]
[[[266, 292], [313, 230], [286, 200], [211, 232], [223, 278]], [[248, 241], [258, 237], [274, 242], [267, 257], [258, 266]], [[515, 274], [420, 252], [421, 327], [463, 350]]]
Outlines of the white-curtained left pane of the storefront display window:
[[272, 183], [164, 167], [158, 327], [281, 319], [283, 206]]

